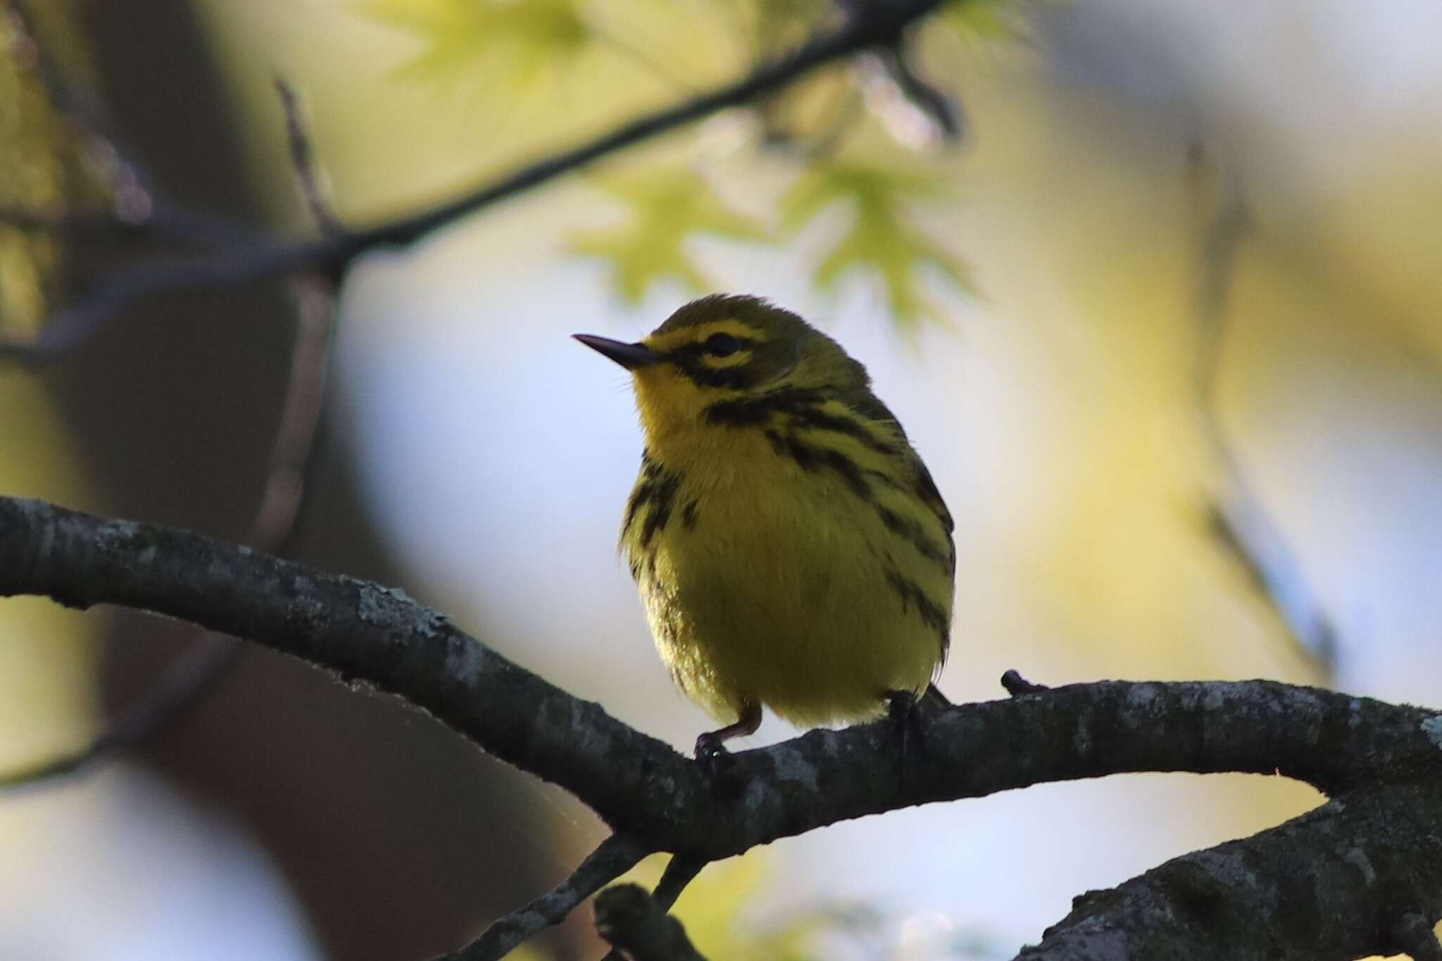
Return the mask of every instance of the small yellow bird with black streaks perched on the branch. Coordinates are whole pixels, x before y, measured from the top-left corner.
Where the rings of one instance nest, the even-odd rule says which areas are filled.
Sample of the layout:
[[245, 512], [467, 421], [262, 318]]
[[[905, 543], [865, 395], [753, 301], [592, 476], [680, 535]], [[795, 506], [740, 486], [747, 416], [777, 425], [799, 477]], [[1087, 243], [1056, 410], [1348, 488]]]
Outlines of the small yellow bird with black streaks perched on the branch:
[[949, 703], [955, 524], [858, 360], [738, 294], [636, 343], [575, 339], [632, 376], [645, 447], [620, 553], [662, 661], [722, 725], [696, 758], [763, 707], [812, 728]]

